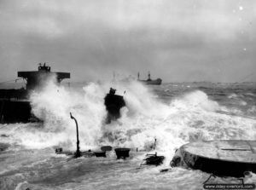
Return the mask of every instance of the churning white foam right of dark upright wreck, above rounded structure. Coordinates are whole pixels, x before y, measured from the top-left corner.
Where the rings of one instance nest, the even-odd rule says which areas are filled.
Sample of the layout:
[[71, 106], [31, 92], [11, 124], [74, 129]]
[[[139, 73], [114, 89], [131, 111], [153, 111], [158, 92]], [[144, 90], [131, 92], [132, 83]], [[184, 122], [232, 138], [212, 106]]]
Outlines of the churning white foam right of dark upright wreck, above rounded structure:
[[133, 102], [137, 103], [132, 105], [136, 114], [125, 111], [119, 123], [105, 129], [108, 130], [105, 140], [113, 141], [115, 146], [149, 150], [156, 138], [158, 151], [174, 153], [189, 141], [255, 138], [255, 133], [250, 132], [255, 126], [253, 119], [220, 113], [222, 107], [200, 90], [173, 99], [169, 106], [152, 95], [149, 104], [154, 107], [143, 109], [147, 108], [141, 104], [143, 100]]

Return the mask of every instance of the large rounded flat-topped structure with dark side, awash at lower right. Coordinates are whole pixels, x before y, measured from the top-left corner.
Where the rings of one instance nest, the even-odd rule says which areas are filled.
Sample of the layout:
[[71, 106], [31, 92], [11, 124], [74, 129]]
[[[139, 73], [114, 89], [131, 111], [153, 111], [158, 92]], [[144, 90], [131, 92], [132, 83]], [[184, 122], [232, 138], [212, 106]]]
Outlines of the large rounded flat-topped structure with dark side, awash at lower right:
[[256, 172], [256, 141], [199, 141], [180, 147], [172, 167], [202, 170], [215, 176], [244, 176]]

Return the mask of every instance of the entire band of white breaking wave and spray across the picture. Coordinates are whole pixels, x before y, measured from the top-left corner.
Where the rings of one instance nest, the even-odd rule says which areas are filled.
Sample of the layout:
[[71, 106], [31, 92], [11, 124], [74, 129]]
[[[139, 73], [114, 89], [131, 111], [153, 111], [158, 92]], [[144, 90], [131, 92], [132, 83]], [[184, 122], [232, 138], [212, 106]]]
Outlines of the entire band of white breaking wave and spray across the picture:
[[[109, 87], [117, 89], [119, 95], [125, 91], [127, 107], [122, 108], [119, 120], [105, 124], [104, 96]], [[178, 95], [166, 103], [153, 89], [137, 82], [88, 83], [78, 90], [51, 80], [32, 93], [31, 101], [32, 112], [44, 123], [9, 124], [1, 131], [10, 136], [10, 143], [75, 149], [76, 130], [70, 112], [79, 122], [82, 150], [102, 145], [149, 150], [157, 139], [156, 149], [171, 157], [177, 147], [189, 141], [256, 137], [255, 119], [227, 114], [232, 110], [212, 101], [201, 90]]]

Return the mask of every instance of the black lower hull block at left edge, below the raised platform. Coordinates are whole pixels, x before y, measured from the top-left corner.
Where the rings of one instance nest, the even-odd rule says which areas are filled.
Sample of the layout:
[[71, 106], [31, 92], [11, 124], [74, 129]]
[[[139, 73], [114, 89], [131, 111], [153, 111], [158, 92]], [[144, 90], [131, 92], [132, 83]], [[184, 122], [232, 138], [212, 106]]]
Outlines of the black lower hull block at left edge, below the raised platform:
[[0, 124], [31, 122], [31, 111], [30, 101], [0, 100]]

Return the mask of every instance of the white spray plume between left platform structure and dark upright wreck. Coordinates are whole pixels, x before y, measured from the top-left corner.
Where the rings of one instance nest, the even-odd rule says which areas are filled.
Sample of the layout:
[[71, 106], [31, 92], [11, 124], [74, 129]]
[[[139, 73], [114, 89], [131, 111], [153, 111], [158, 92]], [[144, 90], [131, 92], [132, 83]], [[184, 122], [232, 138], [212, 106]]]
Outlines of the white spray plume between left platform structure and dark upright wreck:
[[44, 130], [52, 134], [51, 138], [57, 137], [61, 145], [65, 146], [65, 142], [72, 141], [68, 148], [74, 148], [76, 130], [69, 116], [73, 112], [79, 121], [81, 147], [95, 147], [106, 115], [101, 90], [90, 83], [84, 87], [84, 93], [79, 93], [49, 81], [44, 89], [32, 93], [32, 112], [44, 121]]

